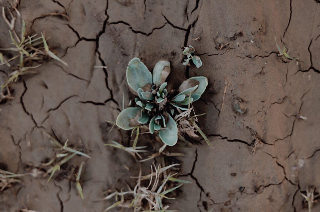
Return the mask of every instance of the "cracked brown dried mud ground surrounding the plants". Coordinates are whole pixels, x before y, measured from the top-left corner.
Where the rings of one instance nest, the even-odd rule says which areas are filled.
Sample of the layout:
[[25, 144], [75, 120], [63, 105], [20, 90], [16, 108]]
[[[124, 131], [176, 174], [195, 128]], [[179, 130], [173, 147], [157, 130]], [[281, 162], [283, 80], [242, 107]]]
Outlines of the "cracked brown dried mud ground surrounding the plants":
[[[97, 201], [104, 191], [132, 184], [128, 176], [137, 176], [139, 165], [103, 144], [129, 144], [127, 132], [108, 134], [105, 120], [116, 119], [123, 90], [127, 103], [133, 97], [125, 79], [133, 57], [147, 67], [169, 60], [173, 86], [193, 76], [209, 80], [194, 107], [206, 113], [199, 125], [214, 148], [203, 141], [175, 147], [186, 153], [181, 178], [193, 183], [181, 187], [171, 209], [308, 210], [300, 192], [320, 189], [319, 1], [20, 0], [18, 9], [27, 31], [44, 30], [49, 46], [69, 66], [51, 60], [12, 84], [14, 99], [0, 105], [1, 168], [23, 173], [27, 164], [51, 158], [43, 130], [70, 144], [81, 141], [92, 158], [82, 175], [84, 200], [63, 176], [49, 183], [25, 177], [0, 195], [0, 211], [100, 212], [112, 204]], [[1, 48], [10, 45], [7, 33], [0, 19]], [[275, 35], [300, 64], [277, 56]], [[182, 66], [187, 45], [201, 56], [199, 69]], [[94, 68], [101, 65], [108, 68]], [[245, 104], [243, 115], [233, 110], [235, 99]], [[254, 155], [253, 132], [260, 139]], [[75, 157], [68, 166], [81, 160]]]

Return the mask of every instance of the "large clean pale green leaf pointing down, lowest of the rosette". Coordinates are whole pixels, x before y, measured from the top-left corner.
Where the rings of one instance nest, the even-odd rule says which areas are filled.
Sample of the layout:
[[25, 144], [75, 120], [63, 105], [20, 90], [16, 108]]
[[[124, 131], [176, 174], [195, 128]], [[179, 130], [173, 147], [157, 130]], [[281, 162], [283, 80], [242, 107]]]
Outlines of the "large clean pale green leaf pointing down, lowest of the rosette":
[[173, 146], [178, 141], [178, 126], [169, 114], [168, 117], [165, 129], [159, 131], [159, 137], [166, 145]]

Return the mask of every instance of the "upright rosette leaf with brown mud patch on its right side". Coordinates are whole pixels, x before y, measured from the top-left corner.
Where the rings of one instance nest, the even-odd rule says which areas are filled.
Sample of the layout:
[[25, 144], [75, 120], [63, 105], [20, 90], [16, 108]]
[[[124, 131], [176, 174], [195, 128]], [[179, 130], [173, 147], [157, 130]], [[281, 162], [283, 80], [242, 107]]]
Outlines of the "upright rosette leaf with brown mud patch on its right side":
[[156, 86], [161, 85], [165, 82], [169, 74], [170, 62], [165, 60], [157, 62], [152, 72], [153, 84], [155, 84]]

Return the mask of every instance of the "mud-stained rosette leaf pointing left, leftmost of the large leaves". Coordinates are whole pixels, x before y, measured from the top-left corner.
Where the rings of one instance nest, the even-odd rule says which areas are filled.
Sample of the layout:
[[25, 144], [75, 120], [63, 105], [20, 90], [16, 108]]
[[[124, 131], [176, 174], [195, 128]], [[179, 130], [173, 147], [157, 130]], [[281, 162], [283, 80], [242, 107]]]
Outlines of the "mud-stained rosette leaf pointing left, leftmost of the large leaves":
[[118, 115], [116, 125], [124, 130], [131, 130], [139, 125], [140, 114], [141, 108], [126, 108]]

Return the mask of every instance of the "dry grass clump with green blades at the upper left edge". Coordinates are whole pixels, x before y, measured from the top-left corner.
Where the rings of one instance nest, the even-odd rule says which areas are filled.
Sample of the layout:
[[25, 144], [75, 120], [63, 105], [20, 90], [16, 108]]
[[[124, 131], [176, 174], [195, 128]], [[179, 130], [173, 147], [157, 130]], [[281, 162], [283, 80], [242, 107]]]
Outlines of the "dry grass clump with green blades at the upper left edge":
[[[3, 17], [6, 20], [6, 23], [10, 27], [9, 34], [12, 41], [12, 48], [0, 49], [3, 52], [10, 52], [10, 54], [2, 54], [0, 52], [0, 66], [7, 65], [11, 68], [12, 73], [10, 74], [9, 79], [6, 83], [1, 85], [1, 88], [6, 87], [9, 83], [17, 81], [18, 77], [25, 74], [36, 73], [32, 69], [38, 68], [39, 63], [43, 63], [47, 56], [58, 60], [62, 64], [66, 64], [59, 57], [53, 54], [47, 45], [46, 40], [44, 39], [43, 34], [41, 37], [36, 38], [36, 34], [28, 36], [26, 34], [26, 25], [24, 20], [22, 20], [22, 34], [19, 37], [14, 30], [15, 17], [12, 15], [12, 21], [9, 22], [5, 17], [4, 8], [3, 8]], [[15, 36], [13, 38], [12, 34]], [[13, 53], [13, 54], [11, 54]], [[6, 59], [5, 55], [13, 55], [11, 58]], [[35, 64], [36, 62], [36, 64]]]

